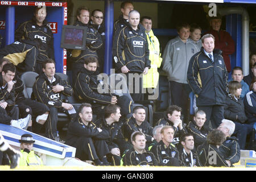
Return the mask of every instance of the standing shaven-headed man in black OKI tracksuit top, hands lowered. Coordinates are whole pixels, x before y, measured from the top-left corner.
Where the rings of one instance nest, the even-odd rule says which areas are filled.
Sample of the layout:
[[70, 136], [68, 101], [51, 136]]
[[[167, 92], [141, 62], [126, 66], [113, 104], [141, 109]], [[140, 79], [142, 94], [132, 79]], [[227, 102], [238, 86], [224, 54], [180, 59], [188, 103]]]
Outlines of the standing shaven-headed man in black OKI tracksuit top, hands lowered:
[[[134, 102], [143, 100], [142, 76], [139, 75], [146, 75], [151, 63], [145, 28], [139, 24], [139, 16], [138, 11], [130, 11], [129, 24], [116, 31], [113, 40], [116, 72], [126, 74], [127, 87]], [[129, 73], [133, 80], [130, 80]]]

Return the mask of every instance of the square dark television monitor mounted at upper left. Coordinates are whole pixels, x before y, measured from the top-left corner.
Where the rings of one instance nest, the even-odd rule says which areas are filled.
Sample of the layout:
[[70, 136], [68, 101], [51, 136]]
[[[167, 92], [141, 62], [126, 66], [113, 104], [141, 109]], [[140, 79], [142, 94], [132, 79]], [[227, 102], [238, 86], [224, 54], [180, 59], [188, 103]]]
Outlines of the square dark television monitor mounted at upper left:
[[63, 25], [60, 47], [85, 50], [88, 27]]

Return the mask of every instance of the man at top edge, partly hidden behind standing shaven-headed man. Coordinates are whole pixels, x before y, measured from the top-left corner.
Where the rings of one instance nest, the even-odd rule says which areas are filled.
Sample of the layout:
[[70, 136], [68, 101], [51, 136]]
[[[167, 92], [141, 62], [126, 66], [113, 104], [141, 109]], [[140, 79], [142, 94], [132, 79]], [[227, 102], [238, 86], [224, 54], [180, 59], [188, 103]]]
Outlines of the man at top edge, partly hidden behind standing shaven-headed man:
[[114, 22], [114, 34], [119, 28], [123, 28], [129, 24], [129, 13], [133, 10], [133, 2], [124, 1], [121, 3], [121, 12], [122, 14], [119, 16], [117, 20]]

